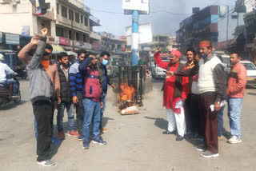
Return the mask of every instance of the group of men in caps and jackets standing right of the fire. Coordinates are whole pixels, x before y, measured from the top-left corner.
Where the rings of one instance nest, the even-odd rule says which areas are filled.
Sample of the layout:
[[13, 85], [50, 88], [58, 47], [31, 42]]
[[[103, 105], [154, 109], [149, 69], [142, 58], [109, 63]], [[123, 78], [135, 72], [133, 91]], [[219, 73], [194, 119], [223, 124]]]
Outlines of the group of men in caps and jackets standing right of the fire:
[[[218, 157], [218, 139], [222, 137], [222, 112], [225, 100], [230, 119], [230, 144], [242, 142], [240, 116], [246, 87], [246, 68], [237, 52], [230, 54], [230, 73], [214, 52], [210, 41], [199, 42], [199, 52], [186, 51], [186, 64], [180, 62], [178, 50], [170, 52], [170, 62], [162, 62], [161, 47], [154, 53], [159, 67], [166, 69], [163, 106], [166, 107], [168, 129], [164, 134], [177, 134], [182, 141], [187, 132], [203, 141], [196, 149], [202, 157]], [[186, 111], [185, 111], [186, 110]]]

